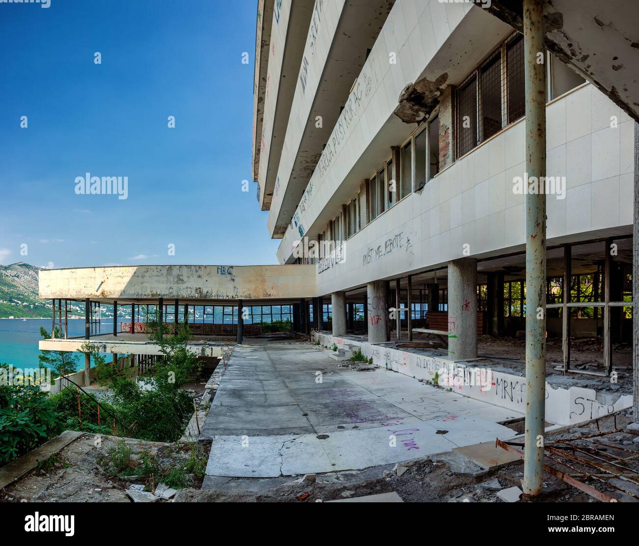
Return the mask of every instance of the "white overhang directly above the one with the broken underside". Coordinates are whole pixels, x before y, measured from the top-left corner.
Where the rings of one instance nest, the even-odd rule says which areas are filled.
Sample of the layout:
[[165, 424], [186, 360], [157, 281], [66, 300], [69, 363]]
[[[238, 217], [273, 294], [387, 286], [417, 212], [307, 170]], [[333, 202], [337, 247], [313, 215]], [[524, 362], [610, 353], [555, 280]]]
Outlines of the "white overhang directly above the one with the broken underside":
[[[268, 216], [273, 238], [284, 236], [335, 123], [342, 109], [348, 108], [349, 93], [394, 3], [395, 0], [316, 3], [284, 148], [279, 165], [274, 165], [277, 181]], [[337, 17], [329, 9], [332, 4]]]

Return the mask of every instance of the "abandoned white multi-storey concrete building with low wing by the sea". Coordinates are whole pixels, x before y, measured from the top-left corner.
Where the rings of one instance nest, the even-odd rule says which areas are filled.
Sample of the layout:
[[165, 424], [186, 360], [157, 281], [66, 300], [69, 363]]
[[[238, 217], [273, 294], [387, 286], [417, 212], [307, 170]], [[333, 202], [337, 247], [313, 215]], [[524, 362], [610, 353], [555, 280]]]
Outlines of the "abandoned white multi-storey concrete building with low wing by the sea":
[[[139, 362], [157, 354], [144, 333], [151, 306], [167, 324], [187, 319], [192, 350], [217, 357], [288, 320], [418, 379], [447, 365], [491, 370], [491, 398], [481, 385], [454, 390], [524, 414], [527, 319], [541, 313], [546, 421], [631, 407], [639, 93], [628, 73], [587, 61], [602, 46], [586, 36], [608, 33], [617, 55], [636, 56], [611, 30], [636, 13], [620, 3], [606, 26], [583, 3], [594, 28], [584, 29], [570, 10], [560, 24], [564, 3], [553, 4], [533, 60], [521, 5], [259, 0], [252, 169], [279, 265], [41, 271], [54, 324], [65, 331], [75, 300], [87, 326], [40, 347], [91, 339]], [[583, 38], [580, 55], [567, 36]], [[533, 71], [545, 98], [536, 111]], [[527, 122], [544, 113], [535, 137]], [[535, 213], [545, 222], [527, 226]], [[527, 242], [541, 224], [535, 265]], [[105, 306], [109, 332], [95, 320]], [[133, 324], [118, 322], [123, 307]]]

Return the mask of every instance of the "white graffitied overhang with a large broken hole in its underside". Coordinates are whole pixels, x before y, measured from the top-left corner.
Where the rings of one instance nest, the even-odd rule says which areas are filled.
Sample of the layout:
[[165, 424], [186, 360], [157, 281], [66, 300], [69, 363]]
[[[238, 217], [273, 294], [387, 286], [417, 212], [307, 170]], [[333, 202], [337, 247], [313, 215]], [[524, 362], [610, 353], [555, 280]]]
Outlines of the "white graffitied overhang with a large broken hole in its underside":
[[[339, 209], [336, 204], [348, 202], [358, 191], [362, 180], [377, 169], [382, 158], [390, 155], [391, 146], [403, 142], [417, 128], [417, 123], [405, 123], [394, 113], [405, 86], [420, 80], [440, 80], [443, 81], [443, 87], [461, 83], [470, 70], [495, 47], [495, 43], [514, 31], [511, 26], [481, 8], [468, 6], [465, 12], [464, 5], [431, 4], [430, 13], [437, 15], [438, 20], [448, 20], [449, 30], [445, 29], [447, 34], [443, 34], [442, 43], [438, 47], [424, 46], [420, 56], [426, 59], [425, 64], [413, 64], [411, 61], [410, 64], [402, 64], [401, 70], [397, 70], [397, 65], [387, 63], [389, 50], [392, 47], [400, 51], [408, 49], [410, 37], [405, 33], [402, 38], [396, 36], [393, 19], [397, 9], [391, 11], [380, 38], [374, 44], [358, 77], [358, 82], [370, 81], [372, 87], [362, 92], [355, 86], [351, 91], [348, 102], [360, 104], [357, 117], [346, 124], [343, 121], [346, 112], [342, 112], [338, 123], [332, 128], [329, 140], [339, 141], [339, 146], [335, 147], [335, 158], [331, 161], [322, 158], [314, 170], [309, 185], [305, 188], [306, 195], [295, 210], [293, 225], [286, 227], [277, 250], [280, 263], [293, 262], [293, 250], [302, 236], [311, 237], [321, 233], [328, 221], [337, 215]], [[449, 18], [446, 19], [448, 9], [454, 12], [449, 12]], [[421, 33], [421, 29], [413, 30], [413, 33], [418, 32]], [[431, 33], [432, 36], [423, 37], [425, 43], [434, 44], [440, 35], [440, 29], [431, 30]], [[493, 39], [486, 40], [487, 35]], [[391, 38], [396, 40], [394, 46], [389, 45]], [[413, 51], [417, 59], [416, 53]], [[358, 98], [358, 94], [362, 96]], [[383, 102], [377, 98], [379, 94], [385, 97]], [[366, 130], [362, 128], [364, 126]], [[273, 210], [272, 208], [271, 215]]]

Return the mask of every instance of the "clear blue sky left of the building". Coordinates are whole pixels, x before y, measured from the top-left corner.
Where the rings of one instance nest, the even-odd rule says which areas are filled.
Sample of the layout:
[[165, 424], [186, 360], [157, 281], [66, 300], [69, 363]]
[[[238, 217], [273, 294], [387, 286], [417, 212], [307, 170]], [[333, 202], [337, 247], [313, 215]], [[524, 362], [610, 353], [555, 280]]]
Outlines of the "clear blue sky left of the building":
[[[257, 0], [0, 4], [0, 263], [275, 263], [250, 169], [256, 13]], [[128, 198], [77, 195], [87, 172], [127, 176]]]

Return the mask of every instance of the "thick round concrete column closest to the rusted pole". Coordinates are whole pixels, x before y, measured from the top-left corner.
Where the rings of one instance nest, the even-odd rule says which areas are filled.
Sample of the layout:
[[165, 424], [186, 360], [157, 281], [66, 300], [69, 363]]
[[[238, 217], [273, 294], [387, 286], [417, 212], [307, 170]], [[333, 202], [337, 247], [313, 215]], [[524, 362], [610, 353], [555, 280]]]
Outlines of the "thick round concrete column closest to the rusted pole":
[[477, 358], [477, 260], [448, 262], [448, 357]]

